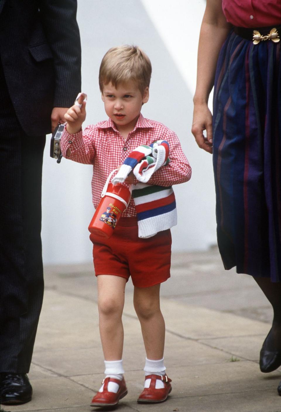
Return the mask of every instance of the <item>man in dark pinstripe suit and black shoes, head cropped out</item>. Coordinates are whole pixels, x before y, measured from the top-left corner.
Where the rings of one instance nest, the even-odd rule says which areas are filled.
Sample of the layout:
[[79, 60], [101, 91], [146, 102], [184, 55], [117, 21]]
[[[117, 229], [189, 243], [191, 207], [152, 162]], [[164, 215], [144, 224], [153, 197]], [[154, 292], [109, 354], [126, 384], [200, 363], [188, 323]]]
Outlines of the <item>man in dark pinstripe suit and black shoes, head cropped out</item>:
[[[77, 0], [0, 0], [0, 403], [31, 399], [46, 133], [81, 89]], [[52, 118], [52, 121], [51, 121]]]

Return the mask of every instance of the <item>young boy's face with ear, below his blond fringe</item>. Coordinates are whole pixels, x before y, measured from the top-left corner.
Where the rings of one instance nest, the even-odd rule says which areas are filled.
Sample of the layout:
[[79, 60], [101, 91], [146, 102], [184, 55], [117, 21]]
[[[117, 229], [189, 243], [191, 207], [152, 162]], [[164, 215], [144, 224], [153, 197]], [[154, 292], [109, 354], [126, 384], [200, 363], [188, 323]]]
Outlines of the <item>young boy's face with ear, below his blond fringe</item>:
[[149, 89], [146, 87], [143, 95], [135, 82], [120, 84], [117, 89], [112, 83], [105, 84], [101, 98], [105, 112], [115, 123], [117, 130], [131, 131], [136, 125], [143, 103], [149, 98]]

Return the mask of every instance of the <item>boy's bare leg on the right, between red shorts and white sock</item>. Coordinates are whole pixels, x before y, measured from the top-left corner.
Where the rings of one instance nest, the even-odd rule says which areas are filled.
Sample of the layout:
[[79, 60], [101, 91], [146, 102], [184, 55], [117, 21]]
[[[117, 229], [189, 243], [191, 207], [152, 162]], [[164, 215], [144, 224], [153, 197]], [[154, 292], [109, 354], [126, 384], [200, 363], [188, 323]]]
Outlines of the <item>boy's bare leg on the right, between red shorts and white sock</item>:
[[160, 284], [149, 288], [134, 288], [133, 304], [141, 323], [146, 356], [151, 360], [163, 358], [165, 322], [160, 310]]

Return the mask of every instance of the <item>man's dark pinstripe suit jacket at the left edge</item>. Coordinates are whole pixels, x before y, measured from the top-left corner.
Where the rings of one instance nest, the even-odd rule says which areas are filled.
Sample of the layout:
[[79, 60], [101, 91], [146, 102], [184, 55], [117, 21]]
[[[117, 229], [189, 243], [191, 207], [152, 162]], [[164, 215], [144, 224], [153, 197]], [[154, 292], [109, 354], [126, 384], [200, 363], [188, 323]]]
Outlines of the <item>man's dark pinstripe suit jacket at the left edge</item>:
[[0, 58], [16, 116], [29, 136], [51, 131], [53, 107], [81, 89], [77, 0], [0, 0]]

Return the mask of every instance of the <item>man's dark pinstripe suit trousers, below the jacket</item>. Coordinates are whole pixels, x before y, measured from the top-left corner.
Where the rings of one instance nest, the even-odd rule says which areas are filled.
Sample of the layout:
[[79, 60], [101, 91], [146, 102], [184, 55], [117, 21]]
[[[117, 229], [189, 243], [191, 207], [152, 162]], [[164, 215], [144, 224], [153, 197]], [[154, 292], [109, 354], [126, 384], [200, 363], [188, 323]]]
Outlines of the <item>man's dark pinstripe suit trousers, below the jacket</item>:
[[42, 306], [44, 144], [22, 130], [0, 61], [0, 372], [29, 371]]

